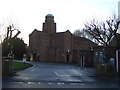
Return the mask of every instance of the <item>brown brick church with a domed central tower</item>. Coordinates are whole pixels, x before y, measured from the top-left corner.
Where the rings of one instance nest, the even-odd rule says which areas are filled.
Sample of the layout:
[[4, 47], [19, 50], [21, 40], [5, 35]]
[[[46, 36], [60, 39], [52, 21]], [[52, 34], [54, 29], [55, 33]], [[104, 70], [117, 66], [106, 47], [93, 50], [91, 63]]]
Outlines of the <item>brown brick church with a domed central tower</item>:
[[92, 66], [92, 41], [74, 36], [69, 30], [56, 32], [54, 16], [47, 14], [42, 31], [34, 29], [29, 35], [29, 55], [31, 61], [78, 63]]

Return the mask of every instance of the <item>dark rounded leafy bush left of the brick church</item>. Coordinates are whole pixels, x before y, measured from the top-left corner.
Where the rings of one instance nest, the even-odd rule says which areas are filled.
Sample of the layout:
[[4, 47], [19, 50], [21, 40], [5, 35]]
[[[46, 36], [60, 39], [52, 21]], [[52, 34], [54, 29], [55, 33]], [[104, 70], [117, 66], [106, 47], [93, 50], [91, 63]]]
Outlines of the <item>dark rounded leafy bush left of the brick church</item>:
[[[11, 45], [10, 45], [10, 44]], [[23, 54], [26, 54], [26, 44], [20, 38], [12, 38], [11, 40], [4, 40], [2, 43], [3, 56], [6, 57], [12, 50], [15, 59], [22, 59]], [[11, 48], [12, 47], [12, 48]]]

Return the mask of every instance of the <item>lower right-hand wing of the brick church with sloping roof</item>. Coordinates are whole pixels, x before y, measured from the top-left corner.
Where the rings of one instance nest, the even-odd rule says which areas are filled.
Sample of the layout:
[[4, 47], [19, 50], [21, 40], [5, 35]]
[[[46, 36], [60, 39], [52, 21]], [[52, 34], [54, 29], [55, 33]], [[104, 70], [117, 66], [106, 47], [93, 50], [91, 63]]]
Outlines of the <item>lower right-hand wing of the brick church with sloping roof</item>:
[[73, 36], [73, 57], [72, 62], [78, 63], [80, 66], [81, 63], [84, 63], [82, 66], [93, 66], [93, 52], [92, 48], [96, 46], [92, 41], [84, 38]]

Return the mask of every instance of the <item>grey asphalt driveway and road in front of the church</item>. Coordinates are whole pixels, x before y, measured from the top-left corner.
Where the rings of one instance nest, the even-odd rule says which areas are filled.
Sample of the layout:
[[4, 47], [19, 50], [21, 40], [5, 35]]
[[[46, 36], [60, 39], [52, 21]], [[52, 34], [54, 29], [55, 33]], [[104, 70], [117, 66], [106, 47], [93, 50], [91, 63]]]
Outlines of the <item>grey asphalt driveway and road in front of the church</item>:
[[3, 78], [3, 88], [118, 88], [117, 78], [96, 77], [76, 64], [28, 62], [33, 67]]

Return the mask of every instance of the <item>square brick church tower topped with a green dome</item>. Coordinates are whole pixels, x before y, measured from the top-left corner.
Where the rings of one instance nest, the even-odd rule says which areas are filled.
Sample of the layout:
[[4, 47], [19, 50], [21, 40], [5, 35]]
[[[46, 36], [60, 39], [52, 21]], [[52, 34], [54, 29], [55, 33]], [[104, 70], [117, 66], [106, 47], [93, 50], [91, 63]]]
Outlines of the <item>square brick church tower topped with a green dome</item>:
[[56, 23], [54, 22], [54, 16], [52, 14], [47, 14], [45, 16], [45, 22], [43, 23], [43, 32], [46, 33], [56, 33]]

